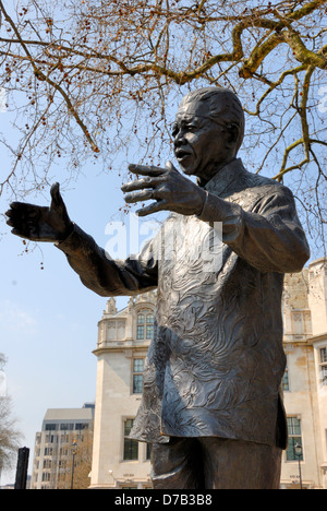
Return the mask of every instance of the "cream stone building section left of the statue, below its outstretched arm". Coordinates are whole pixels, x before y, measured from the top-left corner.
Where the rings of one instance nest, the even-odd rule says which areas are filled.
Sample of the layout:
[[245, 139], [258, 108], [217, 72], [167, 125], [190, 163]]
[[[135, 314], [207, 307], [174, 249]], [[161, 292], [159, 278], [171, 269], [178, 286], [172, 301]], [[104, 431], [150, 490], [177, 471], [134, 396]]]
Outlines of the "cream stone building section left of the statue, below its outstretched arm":
[[129, 439], [153, 337], [156, 294], [118, 311], [110, 298], [98, 323], [97, 392], [90, 488], [150, 488], [149, 449]]

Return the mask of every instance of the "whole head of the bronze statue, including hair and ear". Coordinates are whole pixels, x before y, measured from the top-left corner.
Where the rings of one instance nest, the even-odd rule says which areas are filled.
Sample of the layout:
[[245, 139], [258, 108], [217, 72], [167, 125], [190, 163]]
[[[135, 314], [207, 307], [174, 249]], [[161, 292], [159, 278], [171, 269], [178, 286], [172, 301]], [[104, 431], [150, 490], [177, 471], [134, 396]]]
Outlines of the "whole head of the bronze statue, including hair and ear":
[[235, 158], [244, 129], [243, 108], [233, 92], [218, 87], [191, 92], [179, 107], [172, 132], [182, 170], [210, 179]]

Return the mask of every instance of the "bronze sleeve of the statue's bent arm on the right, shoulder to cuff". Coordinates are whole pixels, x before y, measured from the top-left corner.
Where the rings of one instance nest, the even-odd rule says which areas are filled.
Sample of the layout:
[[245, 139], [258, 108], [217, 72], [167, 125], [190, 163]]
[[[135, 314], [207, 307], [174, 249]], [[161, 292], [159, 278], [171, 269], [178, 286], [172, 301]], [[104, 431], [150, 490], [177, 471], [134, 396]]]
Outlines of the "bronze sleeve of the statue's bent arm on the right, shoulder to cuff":
[[222, 241], [262, 272], [296, 273], [310, 258], [293, 194], [283, 186], [271, 187], [250, 212], [208, 193], [199, 217], [222, 222]]

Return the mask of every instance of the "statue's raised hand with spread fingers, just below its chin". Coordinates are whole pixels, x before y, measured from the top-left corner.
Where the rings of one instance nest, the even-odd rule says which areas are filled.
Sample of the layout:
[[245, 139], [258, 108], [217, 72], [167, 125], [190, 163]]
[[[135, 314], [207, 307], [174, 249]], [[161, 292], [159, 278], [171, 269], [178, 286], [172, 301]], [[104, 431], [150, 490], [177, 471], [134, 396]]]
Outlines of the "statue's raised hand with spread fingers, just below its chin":
[[128, 192], [125, 201], [128, 203], [153, 199], [156, 201], [138, 210], [136, 212], [138, 216], [147, 216], [158, 211], [172, 211], [186, 216], [202, 213], [206, 192], [182, 176], [171, 162], [166, 164], [166, 168], [130, 165], [129, 170], [144, 177], [122, 186], [122, 191]]

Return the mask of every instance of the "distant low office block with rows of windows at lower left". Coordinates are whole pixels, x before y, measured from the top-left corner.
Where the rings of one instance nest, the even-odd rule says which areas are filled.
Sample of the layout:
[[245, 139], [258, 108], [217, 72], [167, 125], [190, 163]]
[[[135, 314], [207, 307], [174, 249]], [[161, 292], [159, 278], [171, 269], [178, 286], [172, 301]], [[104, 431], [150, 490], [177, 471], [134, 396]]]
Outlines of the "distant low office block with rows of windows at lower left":
[[92, 457], [94, 409], [94, 403], [86, 403], [83, 408], [47, 411], [36, 433], [31, 489], [75, 488], [77, 459], [87, 450]]

